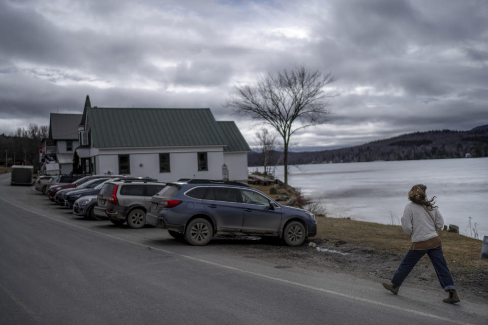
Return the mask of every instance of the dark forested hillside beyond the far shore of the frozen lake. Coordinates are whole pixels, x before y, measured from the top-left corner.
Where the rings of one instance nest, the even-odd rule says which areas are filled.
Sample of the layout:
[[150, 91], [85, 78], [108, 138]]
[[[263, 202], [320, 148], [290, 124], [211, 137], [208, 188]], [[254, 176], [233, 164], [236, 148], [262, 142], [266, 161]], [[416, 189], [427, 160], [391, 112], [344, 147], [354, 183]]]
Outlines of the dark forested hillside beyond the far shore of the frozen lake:
[[[375, 160], [444, 159], [488, 156], [488, 127], [470, 131], [416, 132], [359, 146], [324, 150], [289, 152], [291, 165], [353, 163]], [[269, 165], [281, 164], [281, 152], [274, 152]], [[261, 155], [250, 152], [249, 166], [262, 166]]]

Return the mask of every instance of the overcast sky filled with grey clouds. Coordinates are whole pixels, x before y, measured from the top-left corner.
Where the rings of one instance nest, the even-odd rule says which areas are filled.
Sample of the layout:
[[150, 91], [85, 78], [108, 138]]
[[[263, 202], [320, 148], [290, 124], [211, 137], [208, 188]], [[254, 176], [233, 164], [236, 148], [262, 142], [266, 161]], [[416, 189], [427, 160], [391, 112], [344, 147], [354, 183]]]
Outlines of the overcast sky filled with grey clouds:
[[[233, 85], [304, 65], [331, 72], [332, 123], [295, 147], [340, 147], [488, 124], [486, 1], [0, 1], [0, 133], [49, 113], [225, 108]], [[183, 121], [182, 121], [183, 122]]]

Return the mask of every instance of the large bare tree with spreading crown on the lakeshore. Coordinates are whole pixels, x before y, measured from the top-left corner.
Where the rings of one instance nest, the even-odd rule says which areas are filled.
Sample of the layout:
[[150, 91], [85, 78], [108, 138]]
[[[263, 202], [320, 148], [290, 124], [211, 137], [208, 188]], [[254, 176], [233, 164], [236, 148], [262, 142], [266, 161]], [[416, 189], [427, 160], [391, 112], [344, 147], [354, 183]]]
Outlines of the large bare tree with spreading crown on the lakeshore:
[[331, 73], [306, 69], [303, 66], [276, 74], [268, 73], [256, 85], [235, 86], [227, 102], [241, 116], [271, 125], [283, 138], [285, 185], [288, 185], [288, 146], [290, 137], [299, 129], [325, 123], [329, 115], [328, 99], [337, 96], [329, 85], [335, 81]]

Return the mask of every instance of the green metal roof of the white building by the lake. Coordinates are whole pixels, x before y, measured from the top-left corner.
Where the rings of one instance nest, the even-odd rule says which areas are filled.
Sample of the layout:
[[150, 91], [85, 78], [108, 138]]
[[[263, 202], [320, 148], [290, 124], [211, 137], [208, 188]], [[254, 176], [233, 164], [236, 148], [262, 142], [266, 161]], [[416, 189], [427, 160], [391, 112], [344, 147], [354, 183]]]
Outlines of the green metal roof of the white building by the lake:
[[[224, 146], [251, 151], [234, 122], [217, 122], [209, 108], [86, 107], [96, 148]], [[230, 150], [232, 149], [232, 150]]]

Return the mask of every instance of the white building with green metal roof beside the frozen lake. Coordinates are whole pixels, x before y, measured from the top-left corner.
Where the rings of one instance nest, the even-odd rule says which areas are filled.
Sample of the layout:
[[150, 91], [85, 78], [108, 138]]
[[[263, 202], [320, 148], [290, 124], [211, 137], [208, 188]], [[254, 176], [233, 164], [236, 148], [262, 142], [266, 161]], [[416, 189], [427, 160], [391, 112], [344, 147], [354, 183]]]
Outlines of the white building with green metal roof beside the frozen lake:
[[208, 108], [85, 105], [78, 133], [76, 151], [86, 173], [248, 179], [249, 145], [233, 121], [216, 121]]

